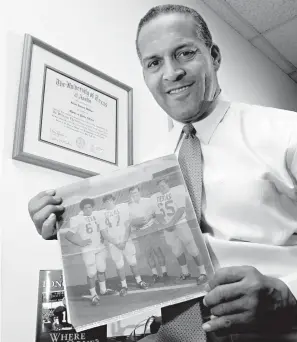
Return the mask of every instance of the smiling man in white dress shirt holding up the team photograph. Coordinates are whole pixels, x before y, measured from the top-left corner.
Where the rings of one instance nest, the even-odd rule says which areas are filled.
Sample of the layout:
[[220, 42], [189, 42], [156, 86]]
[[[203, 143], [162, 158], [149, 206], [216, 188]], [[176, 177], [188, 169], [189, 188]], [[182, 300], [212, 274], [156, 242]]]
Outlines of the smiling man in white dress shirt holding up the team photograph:
[[[285, 339], [296, 322], [296, 113], [222, 101], [220, 49], [190, 8], [153, 8], [139, 24], [136, 43], [144, 80], [174, 120], [162, 154], [176, 147], [179, 153], [185, 123], [193, 124], [189, 136], [201, 144], [201, 224], [220, 266], [204, 298], [212, 319], [203, 328], [243, 333], [237, 341], [253, 341], [247, 332], [265, 340], [276, 330]], [[50, 214], [63, 211], [54, 194], [41, 193], [29, 206], [44, 238], [54, 235]]]

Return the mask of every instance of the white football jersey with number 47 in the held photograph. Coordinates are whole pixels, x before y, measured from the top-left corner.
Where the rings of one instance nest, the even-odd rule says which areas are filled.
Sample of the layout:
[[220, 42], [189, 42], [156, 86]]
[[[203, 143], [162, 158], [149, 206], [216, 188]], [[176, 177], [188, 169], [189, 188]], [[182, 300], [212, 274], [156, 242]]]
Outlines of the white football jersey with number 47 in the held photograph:
[[111, 210], [105, 210], [101, 229], [107, 229], [110, 237], [117, 243], [123, 241], [126, 232], [125, 222], [129, 221], [129, 208], [127, 204], [119, 204]]

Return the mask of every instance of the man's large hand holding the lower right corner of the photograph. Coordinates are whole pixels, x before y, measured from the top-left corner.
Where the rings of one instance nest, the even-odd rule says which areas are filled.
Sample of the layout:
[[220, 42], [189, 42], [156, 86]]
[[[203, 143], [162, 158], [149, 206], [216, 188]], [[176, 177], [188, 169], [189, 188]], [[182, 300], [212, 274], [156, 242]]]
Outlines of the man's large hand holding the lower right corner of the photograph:
[[297, 302], [286, 284], [254, 267], [222, 268], [209, 287], [204, 304], [213, 318], [203, 325], [207, 332], [280, 332], [297, 323]]

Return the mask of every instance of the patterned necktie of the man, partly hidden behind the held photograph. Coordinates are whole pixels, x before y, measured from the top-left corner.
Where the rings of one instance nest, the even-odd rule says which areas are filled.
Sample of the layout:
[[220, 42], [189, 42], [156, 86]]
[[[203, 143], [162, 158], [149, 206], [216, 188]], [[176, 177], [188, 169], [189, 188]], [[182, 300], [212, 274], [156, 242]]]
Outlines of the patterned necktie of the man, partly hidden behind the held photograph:
[[[202, 153], [200, 141], [192, 124], [183, 128], [184, 141], [179, 151], [179, 163], [198, 219], [201, 218]], [[162, 326], [156, 342], [205, 342], [202, 329], [201, 299], [193, 299], [162, 309]]]

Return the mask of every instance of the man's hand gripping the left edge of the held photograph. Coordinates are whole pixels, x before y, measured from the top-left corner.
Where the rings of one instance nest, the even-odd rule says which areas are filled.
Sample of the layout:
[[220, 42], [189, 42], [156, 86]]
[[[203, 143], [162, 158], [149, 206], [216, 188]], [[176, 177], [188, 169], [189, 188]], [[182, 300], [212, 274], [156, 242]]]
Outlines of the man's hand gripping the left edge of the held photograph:
[[57, 216], [64, 212], [62, 199], [55, 196], [55, 190], [42, 191], [33, 197], [28, 204], [29, 214], [37, 232], [45, 239], [56, 239]]

